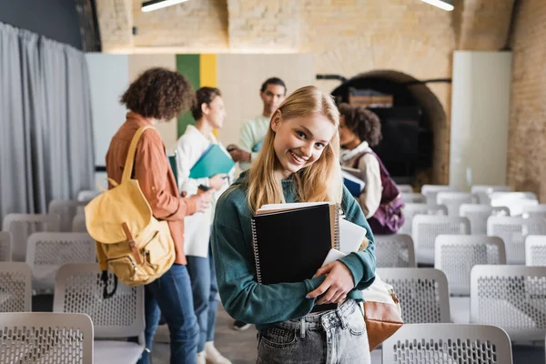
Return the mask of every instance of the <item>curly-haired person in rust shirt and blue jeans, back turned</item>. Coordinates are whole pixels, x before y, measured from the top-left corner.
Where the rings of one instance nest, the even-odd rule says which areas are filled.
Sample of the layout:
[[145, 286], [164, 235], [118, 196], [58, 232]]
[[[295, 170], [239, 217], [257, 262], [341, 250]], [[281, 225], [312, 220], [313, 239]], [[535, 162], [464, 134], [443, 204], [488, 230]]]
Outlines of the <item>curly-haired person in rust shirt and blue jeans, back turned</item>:
[[176, 259], [167, 272], [145, 286], [146, 350], [140, 363], [148, 363], [160, 314], [170, 331], [170, 362], [196, 363], [199, 329], [193, 309], [191, 285], [184, 254], [184, 217], [205, 211], [211, 193], [180, 197], [167, 161], [163, 140], [153, 127], [167, 122], [193, 104], [194, 91], [185, 76], [165, 68], [151, 68], [136, 78], [121, 103], [129, 112], [106, 154], [109, 178], [121, 182], [129, 145], [141, 126], [146, 129], [138, 141], [133, 178], [138, 181], [154, 217], [167, 220], [175, 243]]

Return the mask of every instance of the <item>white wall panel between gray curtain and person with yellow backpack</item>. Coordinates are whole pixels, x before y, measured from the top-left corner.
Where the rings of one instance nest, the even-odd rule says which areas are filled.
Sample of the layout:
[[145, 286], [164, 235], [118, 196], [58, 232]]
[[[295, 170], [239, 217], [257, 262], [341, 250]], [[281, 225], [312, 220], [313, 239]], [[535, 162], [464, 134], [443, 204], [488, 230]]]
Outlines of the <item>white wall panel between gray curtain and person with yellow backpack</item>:
[[[95, 163], [105, 166], [110, 140], [126, 119], [126, 107], [119, 104], [119, 97], [129, 85], [128, 56], [88, 53], [86, 60], [91, 85]], [[96, 173], [97, 181], [104, 177], [106, 173]], [[106, 183], [102, 186], [106, 187]]]

